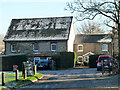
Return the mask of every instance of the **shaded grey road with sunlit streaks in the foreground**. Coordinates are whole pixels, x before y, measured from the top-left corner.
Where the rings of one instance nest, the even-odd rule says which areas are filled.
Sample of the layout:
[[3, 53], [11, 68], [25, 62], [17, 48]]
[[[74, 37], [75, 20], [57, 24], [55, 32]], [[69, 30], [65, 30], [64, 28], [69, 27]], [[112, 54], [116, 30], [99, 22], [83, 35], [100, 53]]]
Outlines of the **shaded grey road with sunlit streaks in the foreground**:
[[102, 75], [96, 68], [55, 71], [44, 70], [38, 72], [44, 75], [41, 80], [17, 90], [26, 88], [116, 88], [119, 84], [118, 75]]

